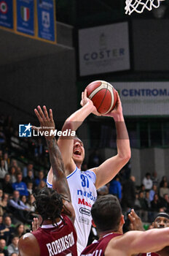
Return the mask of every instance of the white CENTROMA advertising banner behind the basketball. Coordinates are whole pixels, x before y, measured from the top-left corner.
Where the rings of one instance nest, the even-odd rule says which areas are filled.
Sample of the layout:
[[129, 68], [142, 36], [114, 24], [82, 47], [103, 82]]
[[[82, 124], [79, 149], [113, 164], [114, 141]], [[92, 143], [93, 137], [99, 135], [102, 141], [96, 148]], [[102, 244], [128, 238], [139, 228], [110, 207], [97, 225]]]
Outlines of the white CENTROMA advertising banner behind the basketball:
[[169, 82], [111, 84], [119, 91], [125, 116], [169, 115]]

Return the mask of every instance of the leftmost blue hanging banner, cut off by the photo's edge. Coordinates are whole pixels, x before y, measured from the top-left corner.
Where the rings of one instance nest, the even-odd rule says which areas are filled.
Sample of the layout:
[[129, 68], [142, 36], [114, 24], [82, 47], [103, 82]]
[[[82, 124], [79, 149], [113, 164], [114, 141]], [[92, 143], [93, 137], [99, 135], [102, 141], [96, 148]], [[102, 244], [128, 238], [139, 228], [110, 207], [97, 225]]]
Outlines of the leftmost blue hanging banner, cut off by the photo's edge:
[[13, 29], [13, 4], [12, 0], [0, 0], [0, 26]]

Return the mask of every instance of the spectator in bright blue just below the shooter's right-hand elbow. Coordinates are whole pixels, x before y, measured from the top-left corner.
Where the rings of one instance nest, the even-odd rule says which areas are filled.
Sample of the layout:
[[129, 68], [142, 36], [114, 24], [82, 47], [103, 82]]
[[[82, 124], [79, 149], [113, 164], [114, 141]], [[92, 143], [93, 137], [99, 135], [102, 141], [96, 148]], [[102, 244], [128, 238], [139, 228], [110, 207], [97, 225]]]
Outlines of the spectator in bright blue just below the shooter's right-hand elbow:
[[118, 175], [110, 181], [109, 194], [116, 195], [119, 201], [122, 199], [122, 186]]

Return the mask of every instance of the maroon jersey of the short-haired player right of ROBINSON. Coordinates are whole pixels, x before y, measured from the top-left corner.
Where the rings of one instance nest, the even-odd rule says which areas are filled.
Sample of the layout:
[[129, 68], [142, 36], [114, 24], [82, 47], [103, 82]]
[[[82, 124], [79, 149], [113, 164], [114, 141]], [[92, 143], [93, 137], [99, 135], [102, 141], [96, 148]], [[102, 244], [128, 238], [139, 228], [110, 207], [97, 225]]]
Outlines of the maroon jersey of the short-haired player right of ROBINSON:
[[87, 246], [81, 256], [87, 256], [87, 255], [92, 255], [92, 256], [103, 256], [106, 246], [108, 245], [109, 241], [116, 237], [116, 236], [121, 236], [121, 234], [117, 234], [117, 233], [109, 233], [106, 236], [103, 236], [103, 238], [101, 238], [100, 240], [94, 242], [93, 244], [90, 244], [89, 246]]

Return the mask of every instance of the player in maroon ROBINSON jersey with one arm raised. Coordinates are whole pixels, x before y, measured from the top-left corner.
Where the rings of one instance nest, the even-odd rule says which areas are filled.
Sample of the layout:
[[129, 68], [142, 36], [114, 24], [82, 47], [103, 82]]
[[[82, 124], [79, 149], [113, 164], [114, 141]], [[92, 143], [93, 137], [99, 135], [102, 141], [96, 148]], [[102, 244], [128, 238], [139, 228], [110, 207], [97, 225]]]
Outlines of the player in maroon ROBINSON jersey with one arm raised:
[[[41, 124], [42, 132], [50, 132], [51, 129], [55, 129], [52, 110], [50, 110], [50, 117], [46, 107], [44, 107], [44, 112], [38, 108], [35, 113]], [[53, 189], [45, 187], [35, 195], [36, 212], [40, 214], [41, 227], [20, 238], [19, 255], [76, 256], [76, 231], [73, 224], [75, 214], [64, 174], [63, 160], [55, 137], [51, 135], [45, 138], [50, 154], [50, 163], [54, 171]]]

